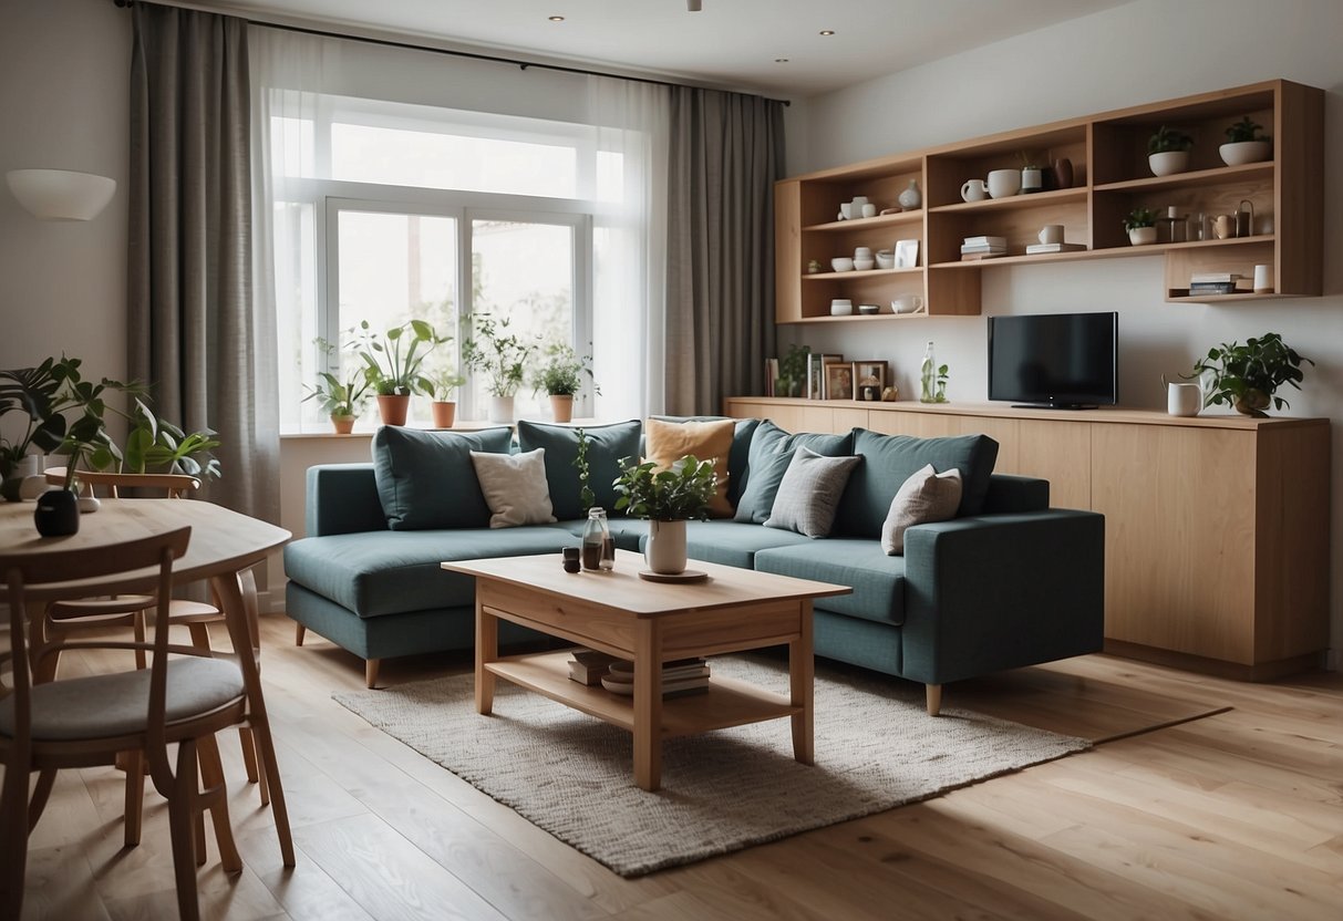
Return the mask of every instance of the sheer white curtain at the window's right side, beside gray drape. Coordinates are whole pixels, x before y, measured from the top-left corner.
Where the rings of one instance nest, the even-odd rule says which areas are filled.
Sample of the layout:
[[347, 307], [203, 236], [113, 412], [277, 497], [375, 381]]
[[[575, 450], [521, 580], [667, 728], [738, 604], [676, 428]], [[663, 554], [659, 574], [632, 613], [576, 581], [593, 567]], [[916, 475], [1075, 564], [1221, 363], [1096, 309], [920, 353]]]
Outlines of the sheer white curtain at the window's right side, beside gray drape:
[[602, 211], [594, 227], [594, 377], [602, 419], [643, 419], [666, 403], [666, 86], [588, 78]]

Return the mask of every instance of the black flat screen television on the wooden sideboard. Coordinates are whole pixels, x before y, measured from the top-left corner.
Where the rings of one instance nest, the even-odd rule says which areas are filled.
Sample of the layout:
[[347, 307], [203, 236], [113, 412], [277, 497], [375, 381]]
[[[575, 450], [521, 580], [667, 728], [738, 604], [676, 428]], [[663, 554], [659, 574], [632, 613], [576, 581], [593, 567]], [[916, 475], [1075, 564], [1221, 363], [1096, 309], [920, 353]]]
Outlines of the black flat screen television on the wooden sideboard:
[[1117, 313], [988, 318], [988, 399], [1053, 409], [1119, 400]]

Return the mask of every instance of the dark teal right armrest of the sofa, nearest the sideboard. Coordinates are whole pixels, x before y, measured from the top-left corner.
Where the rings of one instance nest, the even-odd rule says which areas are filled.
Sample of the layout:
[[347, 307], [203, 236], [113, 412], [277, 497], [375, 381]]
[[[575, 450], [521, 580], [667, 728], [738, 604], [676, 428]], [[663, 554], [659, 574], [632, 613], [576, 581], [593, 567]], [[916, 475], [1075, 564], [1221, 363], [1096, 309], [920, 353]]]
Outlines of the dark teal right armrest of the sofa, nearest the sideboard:
[[940, 685], [1097, 652], [1104, 630], [1101, 514], [986, 514], [905, 533], [907, 678]]

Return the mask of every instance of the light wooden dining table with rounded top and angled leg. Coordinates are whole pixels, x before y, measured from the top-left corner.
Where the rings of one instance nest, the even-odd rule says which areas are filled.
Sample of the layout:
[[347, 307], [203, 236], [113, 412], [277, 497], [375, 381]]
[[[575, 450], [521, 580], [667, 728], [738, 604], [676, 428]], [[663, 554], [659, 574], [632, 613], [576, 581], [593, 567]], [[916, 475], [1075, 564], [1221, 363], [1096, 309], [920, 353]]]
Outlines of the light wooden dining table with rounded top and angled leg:
[[[257, 623], [255, 581], [248, 572], [267, 554], [289, 542], [291, 534], [265, 521], [195, 499], [102, 499], [101, 507], [79, 516], [79, 532], [66, 537], [42, 537], [32, 521], [32, 502], [0, 502], [0, 549], [7, 556], [21, 557], [59, 548], [97, 548], [160, 534], [191, 526], [187, 553], [173, 564], [173, 583], [187, 585], [208, 581], [224, 615], [228, 636], [247, 689], [248, 722], [257, 740], [265, 771], [266, 792], [275, 819], [285, 866], [294, 866], [294, 847], [289, 830], [289, 812], [275, 761], [275, 745], [266, 716], [262, 693], [259, 654], [261, 632]], [[140, 572], [117, 573], [102, 579], [81, 579], [70, 573], [67, 581], [31, 585], [31, 601], [91, 597], [110, 593], [154, 591], [157, 567]], [[252, 655], [243, 655], [251, 650]]]

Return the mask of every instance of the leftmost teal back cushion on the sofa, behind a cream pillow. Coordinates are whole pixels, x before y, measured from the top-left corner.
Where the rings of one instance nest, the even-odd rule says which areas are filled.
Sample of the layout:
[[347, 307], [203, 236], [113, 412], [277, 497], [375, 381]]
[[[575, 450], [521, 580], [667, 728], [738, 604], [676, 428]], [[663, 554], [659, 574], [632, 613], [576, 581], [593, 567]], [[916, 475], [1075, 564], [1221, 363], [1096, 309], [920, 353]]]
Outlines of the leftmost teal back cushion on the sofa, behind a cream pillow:
[[490, 507], [471, 451], [508, 454], [508, 427], [479, 432], [383, 426], [373, 432], [373, 477], [392, 530], [485, 528]]

